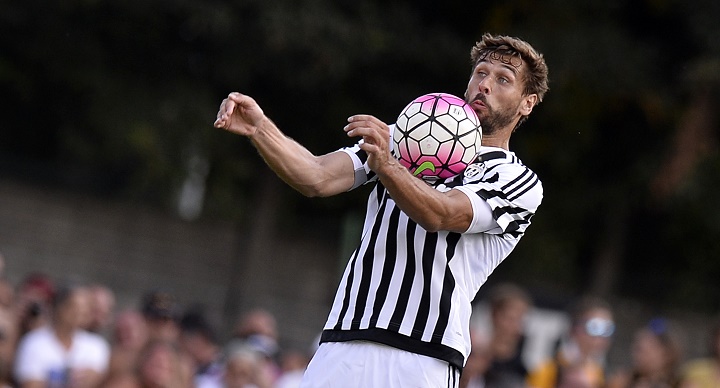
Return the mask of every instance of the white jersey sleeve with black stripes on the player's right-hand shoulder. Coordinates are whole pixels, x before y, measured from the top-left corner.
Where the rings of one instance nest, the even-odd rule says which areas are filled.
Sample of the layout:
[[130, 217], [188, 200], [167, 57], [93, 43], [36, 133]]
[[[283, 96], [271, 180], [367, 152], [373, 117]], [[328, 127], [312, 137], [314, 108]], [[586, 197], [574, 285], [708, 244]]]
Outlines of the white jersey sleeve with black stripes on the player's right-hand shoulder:
[[[462, 186], [473, 206], [473, 222], [466, 233], [500, 234], [506, 238], [519, 238], [530, 225], [530, 219], [540, 206], [543, 188], [537, 175], [519, 163], [504, 163], [488, 168], [473, 178], [465, 178]], [[484, 201], [492, 210], [498, 227], [484, 230], [479, 211]]]

